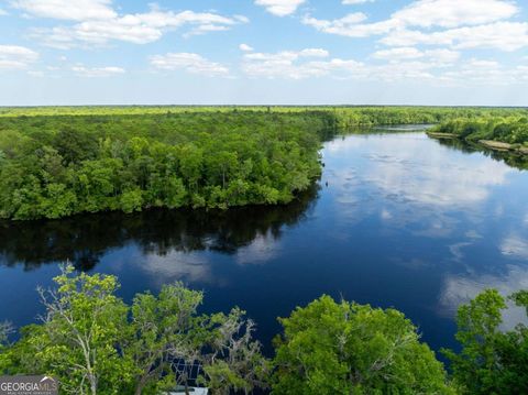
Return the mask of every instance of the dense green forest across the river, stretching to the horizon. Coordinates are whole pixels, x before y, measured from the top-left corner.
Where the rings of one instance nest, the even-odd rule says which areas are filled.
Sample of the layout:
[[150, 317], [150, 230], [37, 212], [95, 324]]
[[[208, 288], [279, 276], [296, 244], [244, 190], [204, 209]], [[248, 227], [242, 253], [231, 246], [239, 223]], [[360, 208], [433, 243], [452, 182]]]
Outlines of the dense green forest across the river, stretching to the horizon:
[[318, 177], [321, 141], [340, 130], [488, 125], [502, 117], [518, 122], [493, 130], [518, 142], [526, 139], [527, 114], [514, 108], [3, 108], [0, 218], [287, 204]]

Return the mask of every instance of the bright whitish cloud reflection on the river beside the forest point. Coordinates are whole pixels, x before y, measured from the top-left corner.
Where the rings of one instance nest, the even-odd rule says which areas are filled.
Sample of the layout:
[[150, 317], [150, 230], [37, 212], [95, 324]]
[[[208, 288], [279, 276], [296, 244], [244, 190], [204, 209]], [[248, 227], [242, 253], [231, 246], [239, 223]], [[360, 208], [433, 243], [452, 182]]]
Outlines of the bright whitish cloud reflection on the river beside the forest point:
[[[351, 186], [376, 185], [387, 197], [405, 198], [426, 206], [471, 209], [485, 200], [490, 188], [504, 185], [513, 172], [506, 164], [485, 156], [458, 153], [427, 140], [425, 134], [352, 135], [330, 142], [326, 160], [350, 161], [352, 167], [334, 169], [332, 185], [350, 195]], [[350, 163], [349, 162], [349, 163]], [[334, 166], [332, 166], [334, 167]], [[351, 176], [355, 176], [351, 180]], [[358, 179], [359, 178], [359, 179]]]

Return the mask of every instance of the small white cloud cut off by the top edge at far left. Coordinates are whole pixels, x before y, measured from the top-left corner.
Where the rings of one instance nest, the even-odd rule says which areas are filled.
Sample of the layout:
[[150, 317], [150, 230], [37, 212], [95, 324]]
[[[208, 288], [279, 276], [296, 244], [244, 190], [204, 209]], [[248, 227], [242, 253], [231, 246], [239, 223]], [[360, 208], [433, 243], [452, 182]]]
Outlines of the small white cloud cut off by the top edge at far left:
[[14, 0], [11, 6], [40, 18], [70, 21], [114, 19], [112, 0]]

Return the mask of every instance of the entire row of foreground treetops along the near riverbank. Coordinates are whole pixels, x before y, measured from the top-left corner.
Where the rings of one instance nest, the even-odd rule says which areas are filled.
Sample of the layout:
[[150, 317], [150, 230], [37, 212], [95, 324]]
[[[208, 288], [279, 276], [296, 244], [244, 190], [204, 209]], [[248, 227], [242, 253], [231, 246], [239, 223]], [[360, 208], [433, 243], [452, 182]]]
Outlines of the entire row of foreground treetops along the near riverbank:
[[[200, 314], [204, 294], [176, 283], [157, 295], [116, 295], [117, 277], [64, 266], [38, 289], [42, 321], [0, 322], [0, 374], [45, 373], [64, 394], [160, 394], [205, 385], [212, 395], [526, 394], [528, 328], [501, 330], [507, 299], [488, 289], [459, 308], [452, 374], [396, 309], [322, 296], [280, 318], [265, 358], [244, 311]], [[528, 292], [509, 296], [528, 314]], [[190, 392], [187, 392], [190, 394]]]

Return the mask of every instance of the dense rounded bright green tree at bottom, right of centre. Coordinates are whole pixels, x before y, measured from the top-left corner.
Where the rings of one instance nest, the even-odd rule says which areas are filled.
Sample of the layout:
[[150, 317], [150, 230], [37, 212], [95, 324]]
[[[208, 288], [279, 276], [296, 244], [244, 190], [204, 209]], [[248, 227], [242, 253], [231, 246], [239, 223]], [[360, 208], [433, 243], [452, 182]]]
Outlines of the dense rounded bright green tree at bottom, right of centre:
[[273, 394], [452, 393], [442, 364], [399, 311], [323, 296], [280, 323]]

